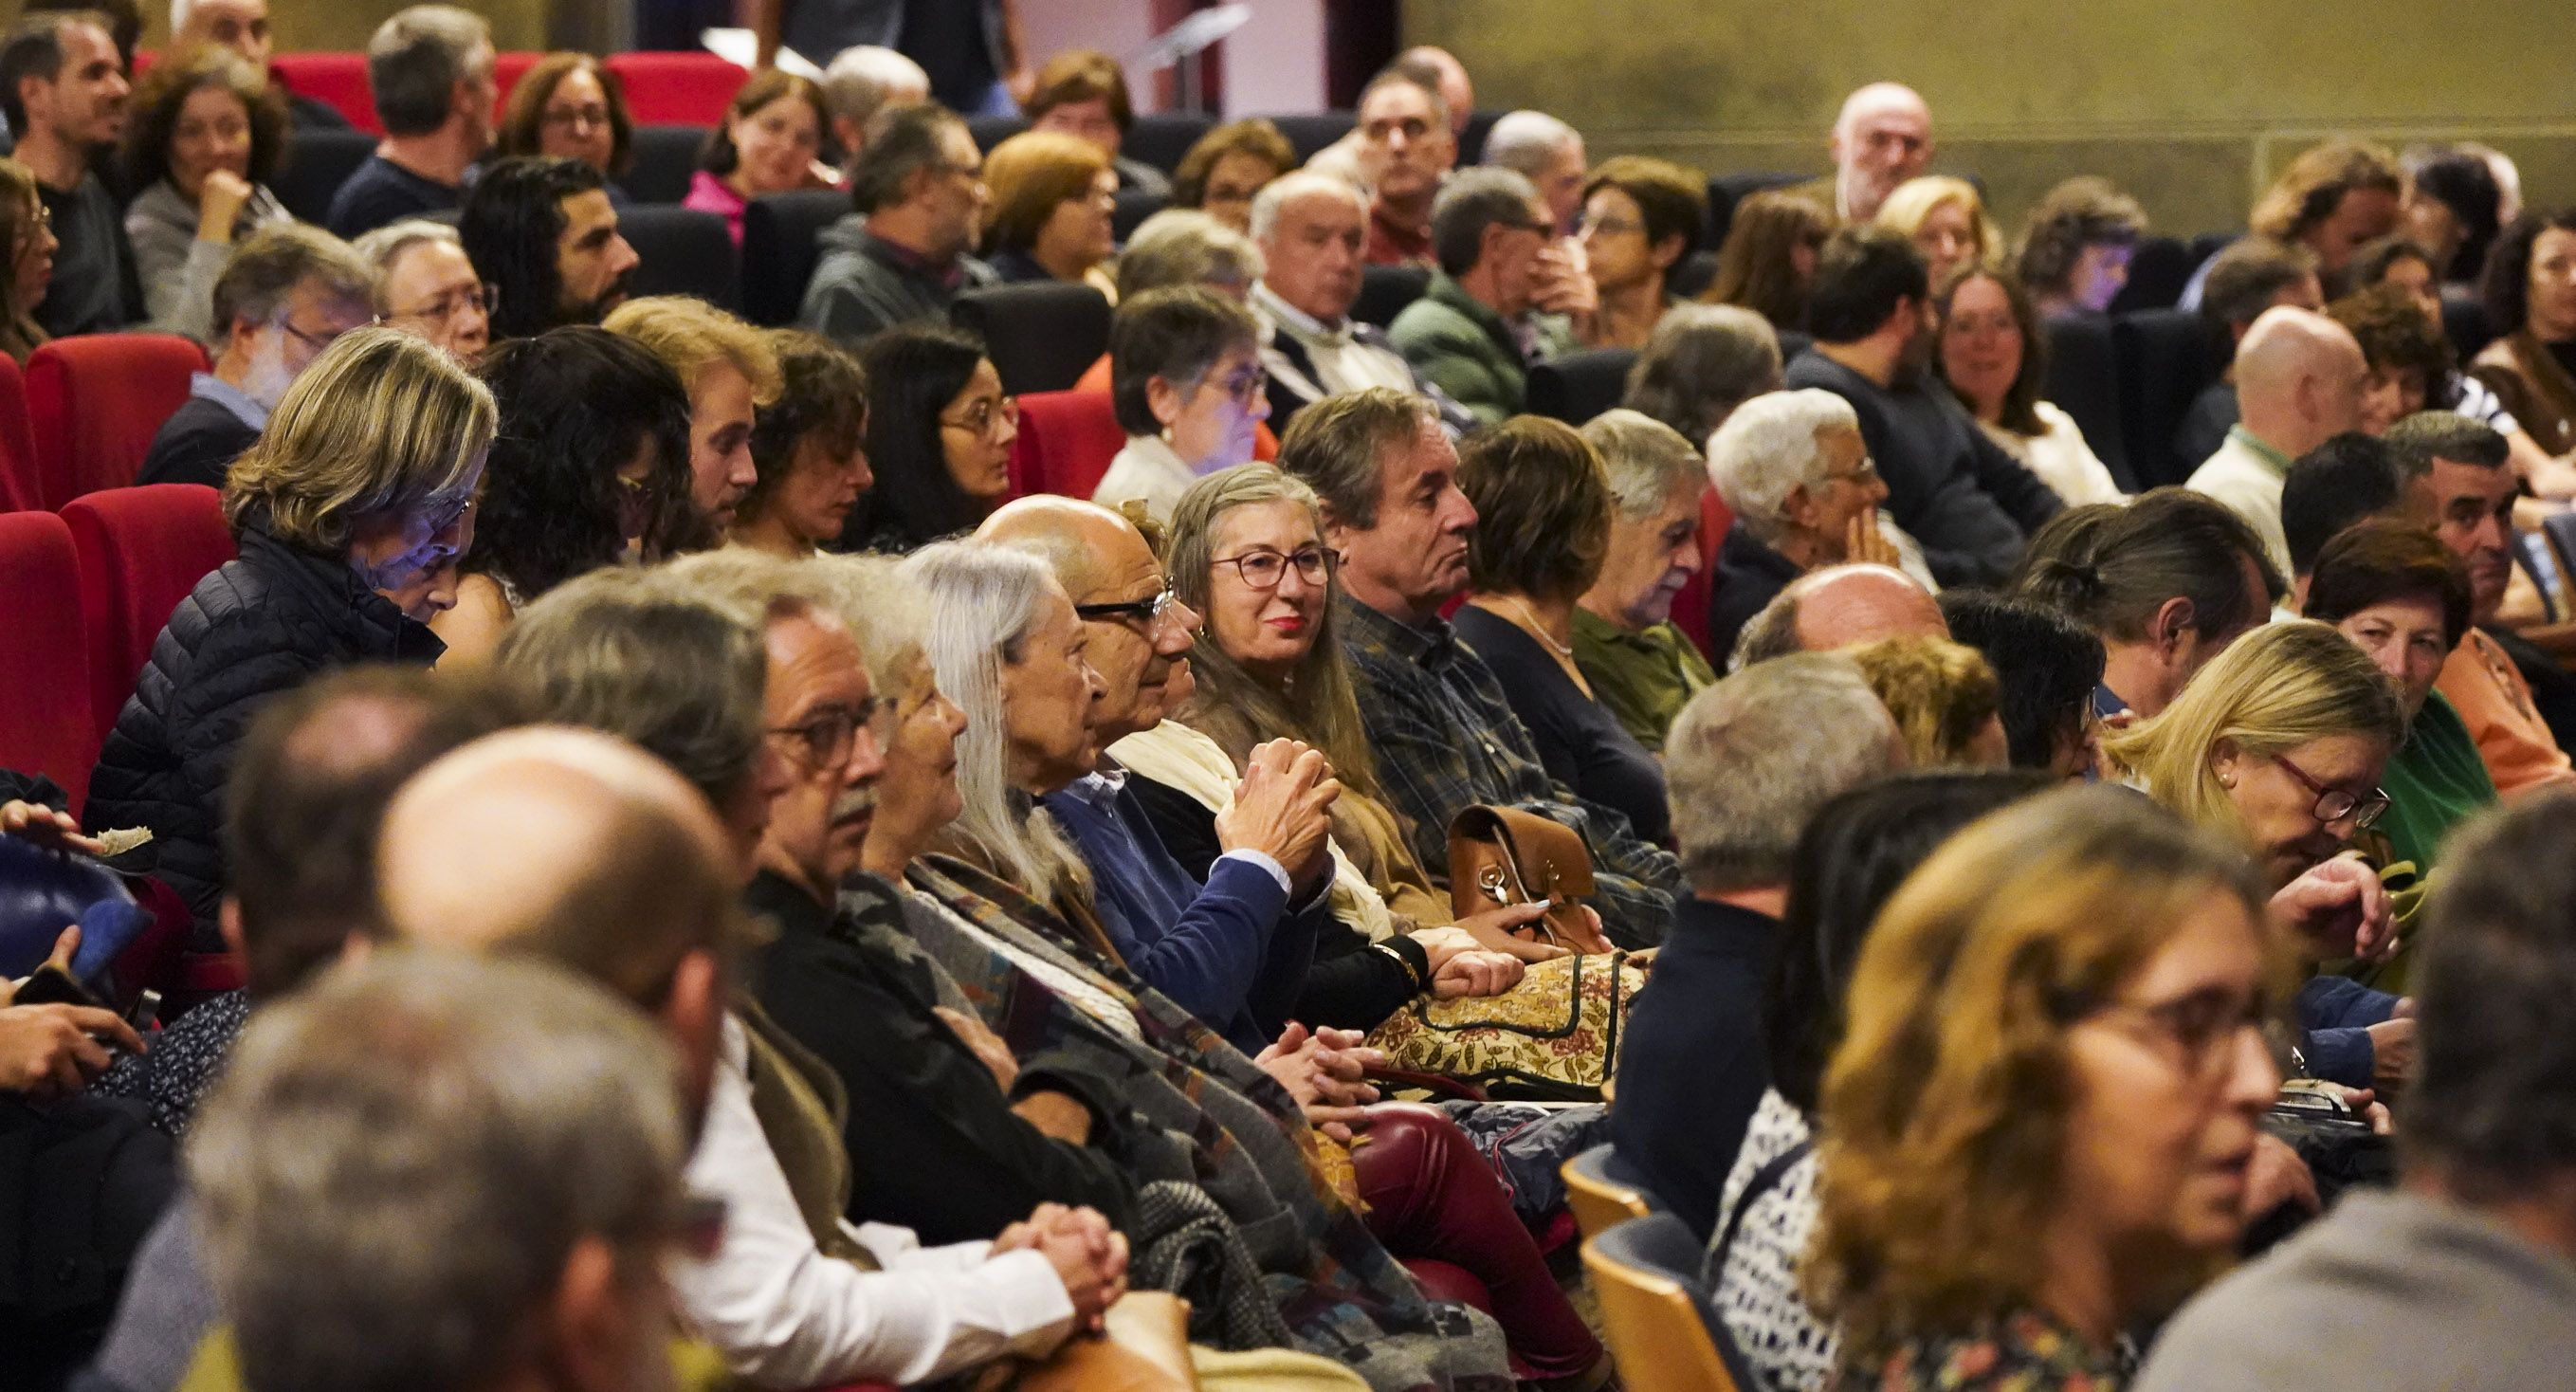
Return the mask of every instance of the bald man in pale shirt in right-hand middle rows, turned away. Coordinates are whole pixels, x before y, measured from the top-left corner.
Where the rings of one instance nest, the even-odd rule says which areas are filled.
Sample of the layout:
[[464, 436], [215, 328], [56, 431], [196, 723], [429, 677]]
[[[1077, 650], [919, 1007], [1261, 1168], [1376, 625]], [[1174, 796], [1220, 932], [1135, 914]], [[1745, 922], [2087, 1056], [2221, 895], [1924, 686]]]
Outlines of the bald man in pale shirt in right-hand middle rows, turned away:
[[2290, 461], [2362, 423], [2362, 345], [2311, 309], [2264, 309], [2236, 345], [2241, 420], [2187, 487], [2241, 516], [2264, 554], [2290, 575], [2290, 541], [2280, 526], [2280, 485]]

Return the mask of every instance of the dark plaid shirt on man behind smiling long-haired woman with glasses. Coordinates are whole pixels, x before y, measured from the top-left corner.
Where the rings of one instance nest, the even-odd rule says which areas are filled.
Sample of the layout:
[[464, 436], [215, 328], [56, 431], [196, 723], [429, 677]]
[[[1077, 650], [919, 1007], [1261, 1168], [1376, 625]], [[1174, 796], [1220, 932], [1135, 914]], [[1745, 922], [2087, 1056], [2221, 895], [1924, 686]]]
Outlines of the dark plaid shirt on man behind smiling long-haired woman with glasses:
[[1378, 781], [1432, 879], [1448, 887], [1448, 825], [1461, 807], [1520, 807], [1584, 838], [1592, 907], [1613, 941], [1662, 943], [1682, 892], [1672, 851], [1638, 840], [1628, 817], [1548, 778], [1502, 683], [1445, 619], [1417, 629], [1350, 598], [1334, 603]]

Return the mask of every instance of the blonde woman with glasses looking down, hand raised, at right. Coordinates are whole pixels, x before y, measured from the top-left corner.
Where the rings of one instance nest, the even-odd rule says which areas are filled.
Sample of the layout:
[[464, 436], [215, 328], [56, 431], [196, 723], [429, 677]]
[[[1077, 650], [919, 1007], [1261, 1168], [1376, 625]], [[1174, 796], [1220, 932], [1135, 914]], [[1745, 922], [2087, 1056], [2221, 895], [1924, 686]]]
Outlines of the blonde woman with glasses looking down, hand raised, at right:
[[[2287, 621], [2228, 644], [2161, 714], [2105, 732], [2102, 758], [2192, 825], [2239, 838], [2303, 951], [2344, 959], [2385, 949], [2378, 874], [2342, 851], [2388, 812], [2380, 773], [2403, 742], [2406, 706], [2380, 668], [2326, 624]], [[2339, 977], [2300, 990], [2298, 1021], [2316, 1078], [2370, 1088], [2414, 1054], [2398, 998]]]

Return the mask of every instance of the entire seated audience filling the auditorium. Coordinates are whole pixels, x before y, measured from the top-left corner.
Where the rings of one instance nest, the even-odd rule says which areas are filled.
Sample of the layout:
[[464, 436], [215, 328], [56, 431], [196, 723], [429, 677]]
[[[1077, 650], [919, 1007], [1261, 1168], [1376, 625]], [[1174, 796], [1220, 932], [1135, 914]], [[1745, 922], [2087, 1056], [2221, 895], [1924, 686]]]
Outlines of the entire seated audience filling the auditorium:
[[1600, 1392], [1587, 1152], [1741, 1392], [2576, 1366], [2576, 214], [2298, 155], [2141, 477], [2141, 201], [1906, 85], [1731, 209], [1440, 49], [1167, 173], [976, 10], [662, 193], [842, 201], [793, 325], [611, 59], [399, 10], [307, 224], [263, 0], [0, 41], [0, 351], [193, 340], [232, 546], [0, 771], [0, 1387]]

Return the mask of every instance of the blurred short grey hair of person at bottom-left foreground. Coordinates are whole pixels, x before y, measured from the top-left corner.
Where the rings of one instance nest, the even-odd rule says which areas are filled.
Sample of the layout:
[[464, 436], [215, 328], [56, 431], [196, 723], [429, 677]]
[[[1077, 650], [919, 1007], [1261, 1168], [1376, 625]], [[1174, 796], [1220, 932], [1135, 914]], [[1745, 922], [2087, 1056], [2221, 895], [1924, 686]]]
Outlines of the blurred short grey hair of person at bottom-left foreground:
[[263, 1005], [185, 1155], [242, 1384], [513, 1369], [574, 1245], [665, 1255], [685, 1147], [670, 1047], [562, 967], [379, 951]]

